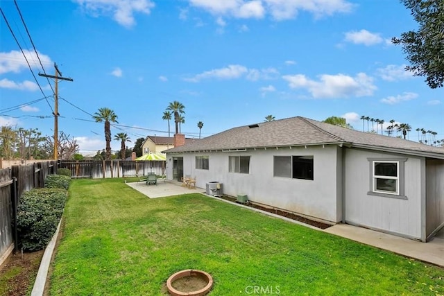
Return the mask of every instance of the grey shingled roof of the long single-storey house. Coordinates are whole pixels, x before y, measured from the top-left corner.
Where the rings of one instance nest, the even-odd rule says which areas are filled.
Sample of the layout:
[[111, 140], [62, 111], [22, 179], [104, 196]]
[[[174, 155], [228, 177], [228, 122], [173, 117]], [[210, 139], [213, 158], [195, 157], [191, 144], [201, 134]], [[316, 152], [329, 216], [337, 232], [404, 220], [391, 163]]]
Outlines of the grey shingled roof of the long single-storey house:
[[341, 128], [301, 116], [231, 128], [163, 152], [185, 153], [328, 144], [444, 159], [444, 148], [427, 146], [381, 134]]

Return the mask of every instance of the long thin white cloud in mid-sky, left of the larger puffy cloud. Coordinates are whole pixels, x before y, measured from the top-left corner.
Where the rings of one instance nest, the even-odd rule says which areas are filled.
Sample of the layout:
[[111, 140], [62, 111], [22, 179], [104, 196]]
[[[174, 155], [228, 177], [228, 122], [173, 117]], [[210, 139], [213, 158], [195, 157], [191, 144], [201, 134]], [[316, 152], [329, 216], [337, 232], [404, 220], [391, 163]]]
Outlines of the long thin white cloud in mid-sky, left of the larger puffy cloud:
[[248, 69], [240, 64], [230, 64], [228, 67], [220, 69], [212, 69], [203, 73], [197, 74], [191, 78], [184, 78], [183, 80], [188, 82], [199, 82], [204, 79], [238, 79], [246, 77], [248, 80], [257, 81], [259, 79], [273, 79], [279, 75], [278, 70], [274, 68], [267, 69]]

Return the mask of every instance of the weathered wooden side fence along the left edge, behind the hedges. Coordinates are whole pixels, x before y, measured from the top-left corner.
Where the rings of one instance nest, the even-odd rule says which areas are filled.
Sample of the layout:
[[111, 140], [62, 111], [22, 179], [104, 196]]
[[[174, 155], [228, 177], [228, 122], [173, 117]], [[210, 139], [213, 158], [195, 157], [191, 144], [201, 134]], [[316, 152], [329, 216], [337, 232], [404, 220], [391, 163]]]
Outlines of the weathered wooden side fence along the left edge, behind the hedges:
[[57, 162], [38, 162], [26, 166], [0, 169], [0, 263], [17, 250], [17, 230], [14, 221], [17, 205], [25, 191], [44, 187], [47, 175], [57, 173]]

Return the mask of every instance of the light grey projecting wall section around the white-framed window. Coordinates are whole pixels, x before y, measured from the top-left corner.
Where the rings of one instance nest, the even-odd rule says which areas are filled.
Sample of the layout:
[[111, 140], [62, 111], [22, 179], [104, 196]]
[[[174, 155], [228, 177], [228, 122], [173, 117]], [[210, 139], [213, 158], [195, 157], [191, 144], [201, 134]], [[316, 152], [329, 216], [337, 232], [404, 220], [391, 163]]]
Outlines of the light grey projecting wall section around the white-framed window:
[[[404, 157], [404, 195], [407, 199], [368, 195], [370, 162], [368, 158]], [[425, 158], [376, 153], [348, 148], [343, 159], [345, 222], [409, 238], [424, 239]]]

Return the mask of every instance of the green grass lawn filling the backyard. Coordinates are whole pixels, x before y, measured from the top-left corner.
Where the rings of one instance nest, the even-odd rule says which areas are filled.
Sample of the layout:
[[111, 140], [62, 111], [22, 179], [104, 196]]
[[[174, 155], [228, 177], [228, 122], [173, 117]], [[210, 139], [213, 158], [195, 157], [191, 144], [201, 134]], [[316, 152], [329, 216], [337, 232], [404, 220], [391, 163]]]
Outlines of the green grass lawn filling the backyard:
[[444, 295], [441, 268], [200, 194], [74, 180], [64, 217], [51, 295], [166, 295], [188, 268], [212, 275], [211, 295]]

